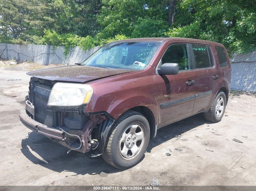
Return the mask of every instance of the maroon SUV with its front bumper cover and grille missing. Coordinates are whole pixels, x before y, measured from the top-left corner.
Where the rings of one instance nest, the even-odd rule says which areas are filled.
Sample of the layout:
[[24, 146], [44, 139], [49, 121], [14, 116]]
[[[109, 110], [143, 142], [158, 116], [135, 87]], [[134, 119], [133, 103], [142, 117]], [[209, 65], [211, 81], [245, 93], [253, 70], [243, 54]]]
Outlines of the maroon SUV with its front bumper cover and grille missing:
[[26, 127], [128, 168], [142, 158], [157, 129], [197, 113], [219, 122], [231, 68], [222, 44], [141, 38], [108, 43], [77, 65], [28, 75], [19, 115]]

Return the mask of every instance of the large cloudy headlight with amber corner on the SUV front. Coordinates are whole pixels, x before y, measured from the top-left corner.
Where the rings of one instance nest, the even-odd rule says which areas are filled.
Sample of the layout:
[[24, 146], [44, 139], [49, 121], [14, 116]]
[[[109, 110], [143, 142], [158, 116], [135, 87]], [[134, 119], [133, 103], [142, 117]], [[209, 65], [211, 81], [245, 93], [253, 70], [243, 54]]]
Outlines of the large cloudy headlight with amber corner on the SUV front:
[[93, 88], [88, 84], [56, 83], [48, 100], [48, 106], [80, 106], [88, 103]]

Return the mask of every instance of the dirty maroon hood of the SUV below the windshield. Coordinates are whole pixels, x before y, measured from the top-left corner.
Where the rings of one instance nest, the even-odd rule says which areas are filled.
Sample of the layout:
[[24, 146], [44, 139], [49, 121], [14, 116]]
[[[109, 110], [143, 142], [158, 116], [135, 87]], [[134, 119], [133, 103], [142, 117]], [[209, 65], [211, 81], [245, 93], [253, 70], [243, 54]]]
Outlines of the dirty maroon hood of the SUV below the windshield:
[[133, 70], [68, 65], [28, 72], [27, 75], [46, 80], [86, 82], [108, 76], [132, 72]]

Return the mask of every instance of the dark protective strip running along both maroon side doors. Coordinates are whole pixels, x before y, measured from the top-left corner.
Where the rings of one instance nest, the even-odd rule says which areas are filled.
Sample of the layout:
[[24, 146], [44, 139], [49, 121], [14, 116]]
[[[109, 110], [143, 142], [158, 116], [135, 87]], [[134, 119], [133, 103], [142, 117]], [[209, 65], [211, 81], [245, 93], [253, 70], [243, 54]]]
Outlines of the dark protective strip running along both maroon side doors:
[[211, 95], [211, 93], [212, 93], [212, 91], [207, 91], [207, 92], [204, 92], [204, 93], [201, 93], [201, 94], [196, 94], [194, 96], [185, 97], [185, 98], [182, 98], [182, 99], [179, 99], [179, 100], [169, 101], [169, 102], [166, 102], [166, 103], [161, 103], [160, 108], [163, 110], [163, 109], [166, 109], [166, 108], [169, 108], [169, 107], [177, 106], [179, 104], [186, 103], [186, 102], [191, 101], [193, 99], [198, 99], [198, 98], [201, 98], [201, 97]]

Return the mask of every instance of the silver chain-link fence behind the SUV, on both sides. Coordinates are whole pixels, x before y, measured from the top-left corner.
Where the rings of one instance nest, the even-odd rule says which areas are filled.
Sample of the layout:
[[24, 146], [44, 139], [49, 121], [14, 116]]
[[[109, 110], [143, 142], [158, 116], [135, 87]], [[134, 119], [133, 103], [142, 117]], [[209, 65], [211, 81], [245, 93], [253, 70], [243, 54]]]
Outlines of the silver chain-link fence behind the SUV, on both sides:
[[[70, 65], [83, 62], [99, 48], [95, 46], [84, 51], [79, 47], [74, 47], [65, 56], [64, 46], [0, 43], [0, 58], [18, 59], [43, 65]], [[231, 90], [256, 92], [256, 51], [247, 54], [231, 53], [230, 60], [232, 69]]]

